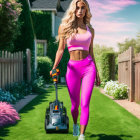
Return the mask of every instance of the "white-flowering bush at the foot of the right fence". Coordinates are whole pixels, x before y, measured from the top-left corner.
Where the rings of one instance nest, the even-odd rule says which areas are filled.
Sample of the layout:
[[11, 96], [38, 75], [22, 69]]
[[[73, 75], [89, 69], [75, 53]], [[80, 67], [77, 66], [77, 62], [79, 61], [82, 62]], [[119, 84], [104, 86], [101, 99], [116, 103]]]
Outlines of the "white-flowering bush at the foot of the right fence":
[[113, 96], [114, 99], [126, 99], [128, 98], [128, 86], [125, 84], [119, 84], [118, 81], [108, 81], [104, 87], [106, 94]]

